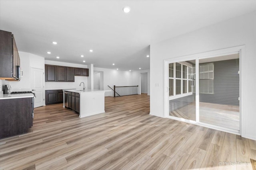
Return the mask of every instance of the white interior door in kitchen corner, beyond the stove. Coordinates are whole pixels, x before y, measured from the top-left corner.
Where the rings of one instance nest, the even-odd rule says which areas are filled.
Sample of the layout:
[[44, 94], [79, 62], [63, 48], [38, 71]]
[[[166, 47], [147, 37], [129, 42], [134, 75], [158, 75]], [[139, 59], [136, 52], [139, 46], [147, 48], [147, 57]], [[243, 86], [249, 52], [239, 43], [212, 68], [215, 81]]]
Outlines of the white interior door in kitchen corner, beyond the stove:
[[30, 90], [36, 94], [34, 107], [44, 106], [44, 70], [30, 68]]

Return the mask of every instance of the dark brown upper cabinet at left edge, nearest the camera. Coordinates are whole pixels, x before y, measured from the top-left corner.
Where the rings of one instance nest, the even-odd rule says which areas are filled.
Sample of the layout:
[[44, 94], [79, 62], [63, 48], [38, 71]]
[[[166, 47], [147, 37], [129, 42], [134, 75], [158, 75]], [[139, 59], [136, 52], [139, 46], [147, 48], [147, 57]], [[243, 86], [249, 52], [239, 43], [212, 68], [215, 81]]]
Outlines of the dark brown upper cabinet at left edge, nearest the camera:
[[0, 30], [0, 79], [20, 80], [20, 56], [11, 32]]

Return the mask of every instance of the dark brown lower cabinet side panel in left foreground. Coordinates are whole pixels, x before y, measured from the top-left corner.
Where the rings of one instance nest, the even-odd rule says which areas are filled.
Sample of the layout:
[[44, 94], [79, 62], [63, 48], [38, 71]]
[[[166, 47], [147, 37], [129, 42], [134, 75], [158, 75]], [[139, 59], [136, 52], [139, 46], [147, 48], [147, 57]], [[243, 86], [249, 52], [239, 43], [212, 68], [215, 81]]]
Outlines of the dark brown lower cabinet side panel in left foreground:
[[32, 127], [32, 100], [0, 100], [0, 139], [28, 132], [28, 128]]

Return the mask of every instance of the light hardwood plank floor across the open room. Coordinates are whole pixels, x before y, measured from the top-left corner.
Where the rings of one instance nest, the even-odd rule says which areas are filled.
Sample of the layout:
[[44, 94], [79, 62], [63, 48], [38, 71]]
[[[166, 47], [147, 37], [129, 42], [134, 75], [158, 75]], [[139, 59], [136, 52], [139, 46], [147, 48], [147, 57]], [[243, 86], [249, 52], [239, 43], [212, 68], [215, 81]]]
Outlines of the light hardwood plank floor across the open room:
[[145, 94], [106, 97], [106, 113], [82, 119], [62, 104], [36, 108], [29, 133], [0, 140], [0, 169], [252, 169], [256, 141], [149, 110]]

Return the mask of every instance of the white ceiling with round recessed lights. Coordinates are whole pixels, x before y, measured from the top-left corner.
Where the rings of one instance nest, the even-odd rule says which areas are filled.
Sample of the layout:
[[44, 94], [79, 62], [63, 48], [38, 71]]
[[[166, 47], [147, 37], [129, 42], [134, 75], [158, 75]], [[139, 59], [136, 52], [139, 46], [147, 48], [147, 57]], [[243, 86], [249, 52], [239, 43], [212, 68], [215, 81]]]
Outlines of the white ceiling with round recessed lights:
[[138, 70], [150, 66], [150, 44], [255, 10], [255, 0], [0, 0], [0, 29], [47, 60]]

